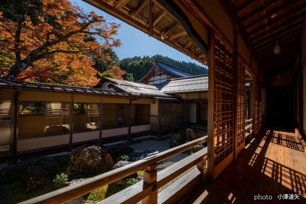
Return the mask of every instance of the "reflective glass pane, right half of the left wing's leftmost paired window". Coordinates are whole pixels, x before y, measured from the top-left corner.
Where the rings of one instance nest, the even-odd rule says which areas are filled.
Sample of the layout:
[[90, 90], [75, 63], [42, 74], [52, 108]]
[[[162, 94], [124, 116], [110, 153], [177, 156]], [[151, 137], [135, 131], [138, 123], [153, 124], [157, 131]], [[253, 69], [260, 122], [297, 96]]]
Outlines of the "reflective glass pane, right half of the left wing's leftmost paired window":
[[69, 132], [69, 103], [47, 103], [47, 134]]

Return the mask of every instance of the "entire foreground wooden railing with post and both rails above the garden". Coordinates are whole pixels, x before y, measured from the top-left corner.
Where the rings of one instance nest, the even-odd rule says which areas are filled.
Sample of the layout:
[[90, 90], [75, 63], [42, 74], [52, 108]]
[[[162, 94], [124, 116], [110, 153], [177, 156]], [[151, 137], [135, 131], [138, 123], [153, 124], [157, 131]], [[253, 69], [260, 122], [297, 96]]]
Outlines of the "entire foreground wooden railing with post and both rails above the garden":
[[[178, 198], [175, 192], [182, 195], [184, 191], [188, 192], [186, 191], [187, 189], [190, 190], [192, 186], [194, 187], [196, 184], [198, 184], [201, 180], [205, 178], [207, 148], [204, 148], [196, 152], [195, 154], [188, 156], [187, 158], [175, 163], [174, 165], [171, 165], [170, 167], [158, 173], [155, 170], [155, 168], [157, 167], [157, 163], [206, 141], [207, 136], [196, 139], [189, 143], [185, 143], [173, 149], [161, 152], [157, 154], [157, 156], [154, 158], [133, 162], [129, 165], [95, 176], [78, 184], [64, 187], [57, 191], [53, 191], [36, 198], [32, 198], [22, 203], [64, 203], [84, 194], [87, 194], [91, 191], [94, 191], [97, 188], [113, 183], [142, 169], [145, 169], [143, 181], [140, 181], [137, 184], [134, 184], [124, 189], [123, 191], [120, 191], [118, 193], [120, 194], [120, 196], [118, 196], [118, 194], [115, 194], [99, 203], [136, 203], [140, 200], [142, 200], [142, 203], [146, 204], [157, 202], [166, 203], [170, 200], [171, 202], [174, 202], [174, 200]], [[177, 186], [173, 185], [173, 188], [167, 187], [166, 190], [169, 190], [164, 190], [165, 192], [162, 191], [159, 194], [161, 196], [159, 196], [159, 198], [157, 197], [157, 189], [169, 183], [171, 180], [181, 175], [188, 169], [192, 168], [192, 166], [194, 165], [197, 165], [197, 169], [193, 170], [191, 172], [192, 175], [189, 175], [189, 177], [186, 177], [185, 181], [183, 181], [183, 183], [185, 182], [186, 184], [185, 186], [180, 184]]]

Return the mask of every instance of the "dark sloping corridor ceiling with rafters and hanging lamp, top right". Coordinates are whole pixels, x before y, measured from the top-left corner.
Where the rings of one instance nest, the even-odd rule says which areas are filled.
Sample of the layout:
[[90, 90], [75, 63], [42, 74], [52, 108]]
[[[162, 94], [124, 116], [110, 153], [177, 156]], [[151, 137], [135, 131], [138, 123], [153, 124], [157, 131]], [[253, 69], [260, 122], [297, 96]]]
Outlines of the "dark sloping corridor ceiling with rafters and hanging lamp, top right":
[[[292, 69], [305, 28], [306, 0], [231, 0], [266, 75]], [[272, 13], [277, 16], [271, 18]], [[275, 43], [280, 53], [274, 54]]]

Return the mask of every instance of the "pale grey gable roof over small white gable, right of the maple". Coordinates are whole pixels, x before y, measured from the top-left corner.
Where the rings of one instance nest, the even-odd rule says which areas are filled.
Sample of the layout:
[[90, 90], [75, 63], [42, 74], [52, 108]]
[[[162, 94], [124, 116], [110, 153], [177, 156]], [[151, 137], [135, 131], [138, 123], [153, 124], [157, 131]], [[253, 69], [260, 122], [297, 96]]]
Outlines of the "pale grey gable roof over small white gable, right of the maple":
[[103, 79], [100, 80], [98, 84], [102, 84], [105, 80], [110, 82], [108, 87], [113, 87], [113, 88], [116, 87], [132, 95], [143, 94], [143, 95], [173, 97], [173, 96], [169, 96], [167, 94], [162, 93], [155, 86], [147, 85], [143, 83], [130, 82], [130, 81], [125, 81], [125, 80], [118, 80], [118, 79], [103, 77]]

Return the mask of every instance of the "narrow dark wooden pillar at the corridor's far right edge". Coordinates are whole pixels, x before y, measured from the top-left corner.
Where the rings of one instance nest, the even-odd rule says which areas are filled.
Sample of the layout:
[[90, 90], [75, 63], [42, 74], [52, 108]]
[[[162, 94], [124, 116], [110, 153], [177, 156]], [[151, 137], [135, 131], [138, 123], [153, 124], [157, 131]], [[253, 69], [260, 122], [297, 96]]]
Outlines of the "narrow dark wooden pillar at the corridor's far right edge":
[[299, 44], [299, 132], [303, 133], [304, 127], [304, 96], [303, 96], [303, 69], [302, 69], [302, 54], [301, 54], [301, 44]]

